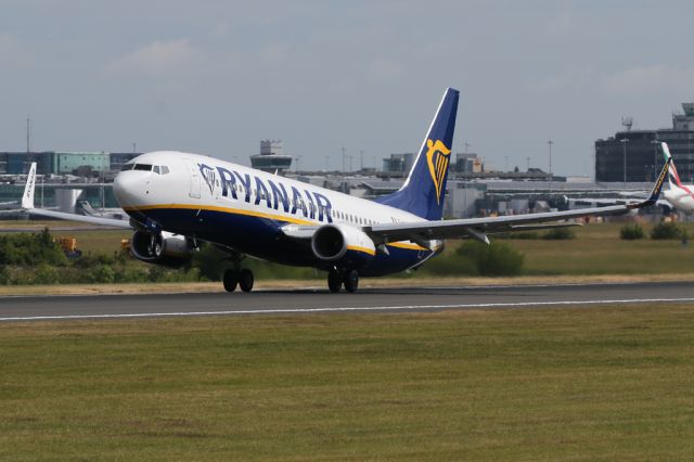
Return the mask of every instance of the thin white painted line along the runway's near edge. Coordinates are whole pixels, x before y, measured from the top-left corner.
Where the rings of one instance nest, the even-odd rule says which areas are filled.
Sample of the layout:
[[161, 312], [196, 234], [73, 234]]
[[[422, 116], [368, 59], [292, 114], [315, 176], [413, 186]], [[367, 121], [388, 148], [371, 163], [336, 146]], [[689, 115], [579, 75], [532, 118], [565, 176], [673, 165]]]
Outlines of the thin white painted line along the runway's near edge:
[[339, 312], [339, 311], [407, 311], [427, 309], [461, 309], [461, 308], [514, 308], [514, 307], [542, 307], [566, 305], [626, 305], [648, 303], [684, 303], [694, 301], [694, 297], [684, 298], [632, 298], [607, 300], [557, 300], [557, 301], [517, 301], [517, 303], [490, 303], [490, 304], [455, 304], [455, 305], [403, 305], [380, 307], [325, 307], [325, 308], [281, 308], [281, 309], [245, 309], [224, 311], [175, 311], [175, 312], [140, 312], [140, 313], [113, 313], [113, 315], [64, 315], [64, 316], [27, 316], [5, 317], [0, 321], [55, 321], [75, 319], [124, 319], [124, 318], [162, 318], [162, 317], [192, 317], [192, 316], [231, 316], [231, 315], [287, 315], [312, 312]]

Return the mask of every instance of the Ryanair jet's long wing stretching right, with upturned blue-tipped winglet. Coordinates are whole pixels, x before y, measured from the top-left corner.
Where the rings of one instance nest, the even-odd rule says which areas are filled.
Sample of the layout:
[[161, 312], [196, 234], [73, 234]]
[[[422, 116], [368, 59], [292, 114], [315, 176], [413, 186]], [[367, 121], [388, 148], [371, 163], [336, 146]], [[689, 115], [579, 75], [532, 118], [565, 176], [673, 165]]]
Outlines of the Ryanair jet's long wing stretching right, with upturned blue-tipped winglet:
[[522, 230], [527, 231], [529, 224], [549, 223], [552, 221], [596, 215], [620, 215], [630, 210], [648, 207], [657, 202], [670, 162], [671, 161], [668, 159], [663, 167], [663, 170], [651, 191], [650, 197], [642, 202], [611, 205], [606, 207], [582, 208], [578, 210], [549, 211], [503, 217], [374, 224], [364, 227], [363, 231], [369, 234], [376, 244], [406, 240], [410, 240], [412, 242], [424, 242], [433, 239], [464, 238], [472, 238], [488, 243], [489, 240], [487, 234]]

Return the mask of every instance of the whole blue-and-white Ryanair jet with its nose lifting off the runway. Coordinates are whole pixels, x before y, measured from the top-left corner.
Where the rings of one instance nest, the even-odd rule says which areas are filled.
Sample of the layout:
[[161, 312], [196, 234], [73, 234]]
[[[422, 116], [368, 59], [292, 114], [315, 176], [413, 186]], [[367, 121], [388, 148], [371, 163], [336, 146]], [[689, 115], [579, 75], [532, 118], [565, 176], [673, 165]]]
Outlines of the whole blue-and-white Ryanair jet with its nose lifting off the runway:
[[[252, 257], [327, 271], [327, 286], [357, 291], [360, 277], [416, 268], [440, 254], [445, 239], [475, 239], [590, 215], [624, 214], [652, 205], [667, 164], [643, 202], [507, 217], [441, 220], [458, 112], [458, 90], [447, 89], [404, 184], [368, 201], [197, 154], [159, 151], [126, 164], [114, 194], [129, 222], [34, 208], [31, 165], [23, 206], [29, 214], [132, 228], [131, 251], [140, 260], [188, 261], [201, 242], [229, 253], [223, 274], [229, 292], [253, 288], [242, 267]], [[552, 223], [554, 222], [554, 223]]]

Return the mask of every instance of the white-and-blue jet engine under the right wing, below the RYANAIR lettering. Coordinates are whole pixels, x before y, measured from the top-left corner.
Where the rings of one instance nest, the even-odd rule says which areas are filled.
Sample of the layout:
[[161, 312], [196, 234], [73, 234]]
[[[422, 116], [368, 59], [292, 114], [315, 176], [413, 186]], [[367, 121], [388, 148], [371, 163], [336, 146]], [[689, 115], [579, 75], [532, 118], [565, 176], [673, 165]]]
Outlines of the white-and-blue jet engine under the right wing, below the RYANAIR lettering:
[[371, 238], [343, 223], [320, 227], [311, 238], [311, 249], [319, 259], [348, 268], [362, 268], [376, 255]]

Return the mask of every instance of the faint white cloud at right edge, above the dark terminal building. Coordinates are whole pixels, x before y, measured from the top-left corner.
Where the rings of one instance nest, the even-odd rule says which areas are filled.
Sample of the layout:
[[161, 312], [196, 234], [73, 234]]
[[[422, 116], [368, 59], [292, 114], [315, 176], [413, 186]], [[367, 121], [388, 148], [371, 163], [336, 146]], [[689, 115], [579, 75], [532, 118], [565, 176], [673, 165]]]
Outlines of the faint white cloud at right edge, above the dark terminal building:
[[632, 67], [603, 78], [603, 87], [613, 93], [637, 94], [668, 89], [691, 92], [694, 68], [652, 65]]

